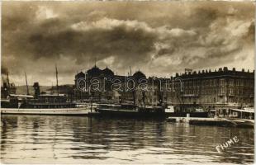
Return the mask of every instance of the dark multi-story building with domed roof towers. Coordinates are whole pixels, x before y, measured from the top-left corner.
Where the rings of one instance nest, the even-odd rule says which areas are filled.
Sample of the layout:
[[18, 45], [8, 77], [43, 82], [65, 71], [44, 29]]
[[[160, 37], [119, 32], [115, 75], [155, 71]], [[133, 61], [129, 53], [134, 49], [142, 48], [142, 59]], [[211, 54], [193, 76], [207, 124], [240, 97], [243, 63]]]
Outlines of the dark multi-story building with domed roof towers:
[[[145, 74], [138, 71], [133, 75], [121, 76], [114, 74], [110, 68], [100, 69], [95, 65], [85, 73], [80, 72], [75, 75], [74, 96], [82, 100], [93, 98], [94, 101], [102, 99], [135, 101], [135, 92], [126, 90], [126, 82], [129, 78], [145, 78]], [[118, 82], [120, 90], [116, 89]]]

